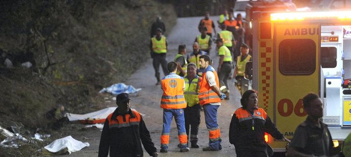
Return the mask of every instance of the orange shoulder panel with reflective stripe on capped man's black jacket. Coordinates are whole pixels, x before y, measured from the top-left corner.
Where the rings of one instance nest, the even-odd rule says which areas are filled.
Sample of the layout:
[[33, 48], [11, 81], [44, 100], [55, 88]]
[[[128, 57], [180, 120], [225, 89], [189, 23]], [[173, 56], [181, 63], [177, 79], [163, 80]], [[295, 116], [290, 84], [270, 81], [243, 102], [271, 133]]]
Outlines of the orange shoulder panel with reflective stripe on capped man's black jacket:
[[134, 114], [134, 117], [132, 117], [130, 114], [125, 114], [126, 122], [123, 121], [123, 115], [118, 115], [116, 119], [111, 120], [113, 113], [109, 114], [107, 116], [109, 128], [123, 128], [123, 127], [130, 127], [133, 125], [139, 125], [141, 121], [140, 113], [135, 110], [132, 110], [132, 112]]

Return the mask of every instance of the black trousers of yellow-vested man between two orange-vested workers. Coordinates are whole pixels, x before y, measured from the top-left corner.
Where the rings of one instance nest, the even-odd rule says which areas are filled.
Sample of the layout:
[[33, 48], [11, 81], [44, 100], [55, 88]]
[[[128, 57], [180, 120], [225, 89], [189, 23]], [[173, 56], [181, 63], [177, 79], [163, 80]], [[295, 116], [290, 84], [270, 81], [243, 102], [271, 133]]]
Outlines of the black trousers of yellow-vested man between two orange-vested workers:
[[187, 106], [184, 109], [184, 118], [185, 118], [185, 130], [187, 132], [189, 138], [189, 130], [191, 126], [190, 132], [190, 142], [197, 143], [198, 137], [197, 134], [199, 132], [199, 125], [200, 125], [200, 104], [196, 104], [194, 106]]

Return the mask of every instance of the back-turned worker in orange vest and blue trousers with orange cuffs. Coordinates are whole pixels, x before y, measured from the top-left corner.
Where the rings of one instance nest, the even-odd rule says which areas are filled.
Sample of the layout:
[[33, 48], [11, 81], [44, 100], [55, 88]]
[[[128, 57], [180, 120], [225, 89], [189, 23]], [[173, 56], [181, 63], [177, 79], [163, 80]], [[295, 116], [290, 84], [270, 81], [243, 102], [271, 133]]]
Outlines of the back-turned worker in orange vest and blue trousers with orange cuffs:
[[161, 98], [161, 108], [163, 108], [163, 128], [161, 134], [160, 152], [168, 152], [170, 124], [174, 116], [178, 129], [178, 138], [181, 152], [189, 151], [188, 137], [185, 131], [184, 109], [187, 103], [184, 98], [184, 78], [177, 75], [177, 63], [171, 61], [167, 64], [170, 72], [164, 76], [161, 81], [163, 95]]

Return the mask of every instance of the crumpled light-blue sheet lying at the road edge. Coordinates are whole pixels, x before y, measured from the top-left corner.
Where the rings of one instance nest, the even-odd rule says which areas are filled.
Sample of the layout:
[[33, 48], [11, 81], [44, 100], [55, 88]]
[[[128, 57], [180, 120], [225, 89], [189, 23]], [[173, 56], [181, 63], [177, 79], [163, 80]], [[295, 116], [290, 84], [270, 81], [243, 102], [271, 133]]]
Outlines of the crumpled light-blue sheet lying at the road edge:
[[113, 95], [118, 95], [120, 93], [136, 93], [138, 91], [140, 91], [141, 88], [135, 89], [133, 86], [131, 85], [125, 85], [124, 83], [118, 83], [118, 84], [114, 84], [110, 87], [104, 88], [102, 89], [99, 93], [110, 93]]

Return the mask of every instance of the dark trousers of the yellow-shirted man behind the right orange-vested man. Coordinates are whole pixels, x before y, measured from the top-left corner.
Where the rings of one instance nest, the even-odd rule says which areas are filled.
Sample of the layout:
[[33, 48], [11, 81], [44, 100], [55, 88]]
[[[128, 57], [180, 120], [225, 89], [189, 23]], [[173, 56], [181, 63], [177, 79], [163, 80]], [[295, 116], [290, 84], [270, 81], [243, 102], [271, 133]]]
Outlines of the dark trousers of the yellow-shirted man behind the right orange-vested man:
[[218, 80], [219, 80], [219, 88], [222, 86], [225, 86], [225, 89], [222, 89], [221, 91], [223, 93], [226, 93], [228, 89], [228, 77], [231, 72], [233, 65], [231, 62], [223, 62], [221, 66], [221, 70], [218, 73]]

